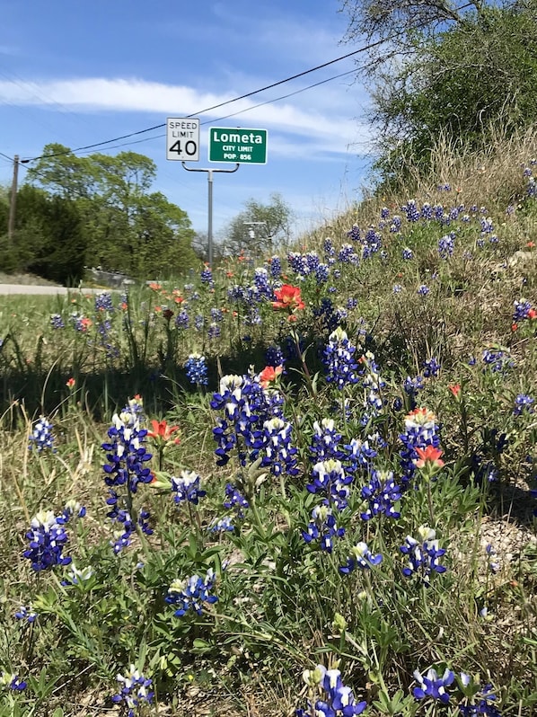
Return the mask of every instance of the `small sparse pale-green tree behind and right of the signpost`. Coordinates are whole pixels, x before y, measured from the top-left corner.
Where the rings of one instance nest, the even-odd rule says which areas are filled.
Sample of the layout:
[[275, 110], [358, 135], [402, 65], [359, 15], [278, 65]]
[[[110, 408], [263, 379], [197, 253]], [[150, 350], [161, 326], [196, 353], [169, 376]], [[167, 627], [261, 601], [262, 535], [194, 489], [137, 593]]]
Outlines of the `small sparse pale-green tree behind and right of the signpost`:
[[291, 208], [280, 194], [271, 194], [269, 204], [249, 199], [224, 233], [225, 252], [272, 253], [278, 243], [288, 241], [291, 218]]

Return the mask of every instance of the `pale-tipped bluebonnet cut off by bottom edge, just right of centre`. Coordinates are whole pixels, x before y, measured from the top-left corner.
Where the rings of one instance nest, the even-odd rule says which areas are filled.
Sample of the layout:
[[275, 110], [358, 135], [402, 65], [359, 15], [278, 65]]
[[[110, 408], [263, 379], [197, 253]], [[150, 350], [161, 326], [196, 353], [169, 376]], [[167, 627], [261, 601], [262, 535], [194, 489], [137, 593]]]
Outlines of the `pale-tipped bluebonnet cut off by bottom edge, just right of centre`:
[[364, 712], [367, 703], [357, 702], [350, 687], [343, 685], [339, 669], [326, 669], [317, 665], [314, 670], [306, 669], [304, 681], [308, 686], [319, 686], [324, 691], [325, 699], [308, 701], [306, 710], [298, 709], [295, 717], [353, 717]]

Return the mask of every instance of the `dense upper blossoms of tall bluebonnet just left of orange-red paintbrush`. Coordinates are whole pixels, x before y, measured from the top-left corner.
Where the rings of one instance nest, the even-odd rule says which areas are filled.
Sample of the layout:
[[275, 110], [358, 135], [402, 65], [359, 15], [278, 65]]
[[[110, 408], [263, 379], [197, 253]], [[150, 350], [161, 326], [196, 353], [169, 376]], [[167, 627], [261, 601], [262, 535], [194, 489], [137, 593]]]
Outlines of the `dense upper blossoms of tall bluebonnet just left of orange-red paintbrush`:
[[126, 485], [129, 493], [136, 493], [140, 482], [153, 480], [145, 464], [153, 457], [145, 448], [147, 429], [141, 428], [139, 403], [129, 403], [122, 412], [114, 413], [108, 429], [107, 441], [101, 445], [109, 463], [102, 466], [104, 482], [109, 486]]

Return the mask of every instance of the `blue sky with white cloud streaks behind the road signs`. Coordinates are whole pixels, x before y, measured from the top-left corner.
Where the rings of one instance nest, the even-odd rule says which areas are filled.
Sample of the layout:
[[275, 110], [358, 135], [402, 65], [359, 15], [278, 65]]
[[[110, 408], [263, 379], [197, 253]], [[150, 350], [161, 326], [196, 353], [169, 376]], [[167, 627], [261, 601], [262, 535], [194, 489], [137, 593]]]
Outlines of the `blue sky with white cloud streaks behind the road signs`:
[[[203, 112], [357, 49], [341, 44], [347, 22], [339, 0], [3, 0], [0, 7], [4, 155], [40, 155], [50, 142], [89, 145], [193, 114], [201, 131], [200, 161], [192, 167], [233, 167], [208, 163], [210, 126], [269, 132], [268, 164], [215, 175], [216, 235], [245, 201], [266, 202], [272, 192], [293, 208], [296, 232], [330, 220], [360, 196], [371, 130], [368, 97], [354, 75], [253, 107], [352, 70], [353, 58]], [[150, 156], [158, 168], [153, 189], [206, 231], [207, 174], [166, 160], [164, 135], [158, 129], [132, 138], [143, 142], [92, 151]], [[0, 183], [11, 173], [0, 155]], [[21, 168], [21, 181], [24, 175]]]

